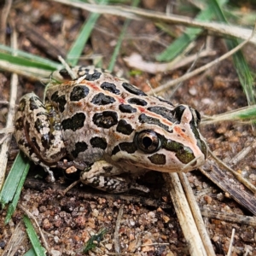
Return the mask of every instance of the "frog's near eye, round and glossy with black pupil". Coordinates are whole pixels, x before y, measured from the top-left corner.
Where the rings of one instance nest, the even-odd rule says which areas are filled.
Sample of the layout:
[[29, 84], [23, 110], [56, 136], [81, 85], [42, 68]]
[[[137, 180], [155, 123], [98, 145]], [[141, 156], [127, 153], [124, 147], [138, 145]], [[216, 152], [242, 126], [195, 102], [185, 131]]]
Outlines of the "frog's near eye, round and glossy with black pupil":
[[160, 148], [160, 138], [154, 131], [144, 130], [134, 137], [137, 148], [145, 153], [153, 153]]

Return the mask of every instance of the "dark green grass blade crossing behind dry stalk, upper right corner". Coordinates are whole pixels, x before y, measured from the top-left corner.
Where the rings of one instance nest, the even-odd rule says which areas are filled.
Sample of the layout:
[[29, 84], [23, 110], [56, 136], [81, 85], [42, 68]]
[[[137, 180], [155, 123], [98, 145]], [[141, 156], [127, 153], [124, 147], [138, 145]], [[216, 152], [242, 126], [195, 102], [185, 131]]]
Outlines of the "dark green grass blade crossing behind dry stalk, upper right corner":
[[[212, 0], [212, 10], [214, 11], [215, 15], [218, 17], [218, 20], [227, 23], [227, 20], [224, 16], [224, 13], [221, 7], [218, 4], [217, 0]], [[236, 39], [226, 40], [226, 44], [229, 49], [233, 49], [238, 45]], [[247, 96], [247, 102], [249, 105], [255, 104], [255, 98], [253, 94], [253, 74], [251, 73], [247, 61], [245, 60], [244, 56], [242, 55], [241, 51], [236, 52], [233, 55], [234, 65], [236, 67], [236, 72], [238, 74], [239, 80], [241, 82], [241, 86]]]

